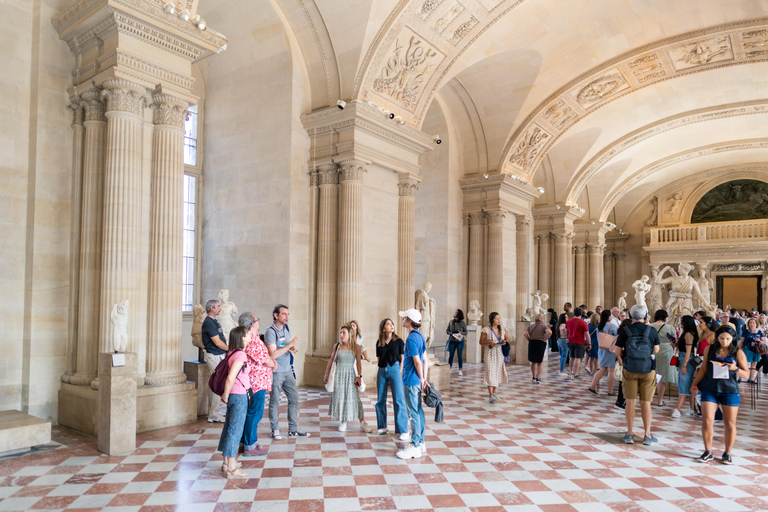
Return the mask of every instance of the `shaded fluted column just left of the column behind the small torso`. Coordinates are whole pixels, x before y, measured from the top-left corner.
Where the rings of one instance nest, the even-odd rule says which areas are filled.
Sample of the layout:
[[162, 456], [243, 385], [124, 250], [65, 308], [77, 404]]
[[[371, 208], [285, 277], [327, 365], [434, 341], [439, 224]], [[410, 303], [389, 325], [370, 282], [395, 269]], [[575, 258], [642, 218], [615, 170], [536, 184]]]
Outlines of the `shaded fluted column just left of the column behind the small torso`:
[[96, 378], [99, 353], [104, 141], [107, 119], [99, 93], [81, 95], [84, 108], [83, 192], [80, 219], [80, 272], [77, 310], [77, 369], [70, 384], [87, 386]]

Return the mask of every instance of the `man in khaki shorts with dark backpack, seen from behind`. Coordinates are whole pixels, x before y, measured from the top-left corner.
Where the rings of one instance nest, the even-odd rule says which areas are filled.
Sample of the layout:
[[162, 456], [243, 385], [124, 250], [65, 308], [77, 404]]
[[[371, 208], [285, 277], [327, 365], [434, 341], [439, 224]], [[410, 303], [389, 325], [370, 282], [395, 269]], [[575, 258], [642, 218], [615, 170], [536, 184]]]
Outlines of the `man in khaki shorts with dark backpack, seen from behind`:
[[656, 361], [655, 355], [659, 351], [659, 335], [652, 325], [648, 325], [648, 309], [640, 304], [635, 304], [629, 310], [632, 325], [619, 330], [616, 338], [616, 360], [624, 365], [622, 374], [622, 388], [626, 407], [624, 413], [627, 418], [627, 434], [624, 436], [626, 444], [635, 443], [633, 424], [635, 421], [635, 403], [637, 394], [640, 393], [640, 412], [643, 417], [644, 445], [652, 445], [659, 442], [651, 434], [651, 400], [656, 391]]

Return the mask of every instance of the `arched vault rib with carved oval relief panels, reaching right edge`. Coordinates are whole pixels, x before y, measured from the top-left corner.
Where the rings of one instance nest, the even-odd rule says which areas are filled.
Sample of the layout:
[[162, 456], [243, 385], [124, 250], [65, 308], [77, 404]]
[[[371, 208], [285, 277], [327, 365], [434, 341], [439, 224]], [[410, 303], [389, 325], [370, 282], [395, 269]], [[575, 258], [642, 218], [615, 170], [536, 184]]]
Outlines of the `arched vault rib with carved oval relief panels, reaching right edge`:
[[541, 159], [574, 124], [649, 85], [715, 68], [768, 60], [768, 18], [701, 29], [625, 53], [549, 96], [508, 139], [499, 169], [531, 181]]

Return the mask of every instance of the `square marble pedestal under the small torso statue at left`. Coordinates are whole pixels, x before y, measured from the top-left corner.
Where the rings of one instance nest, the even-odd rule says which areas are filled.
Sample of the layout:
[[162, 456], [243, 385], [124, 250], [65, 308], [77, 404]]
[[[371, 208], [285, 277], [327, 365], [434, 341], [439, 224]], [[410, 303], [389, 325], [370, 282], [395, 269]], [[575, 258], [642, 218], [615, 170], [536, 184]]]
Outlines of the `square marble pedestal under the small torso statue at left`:
[[[112, 366], [121, 355], [124, 366]], [[119, 455], [136, 449], [136, 354], [99, 354], [98, 449]]]

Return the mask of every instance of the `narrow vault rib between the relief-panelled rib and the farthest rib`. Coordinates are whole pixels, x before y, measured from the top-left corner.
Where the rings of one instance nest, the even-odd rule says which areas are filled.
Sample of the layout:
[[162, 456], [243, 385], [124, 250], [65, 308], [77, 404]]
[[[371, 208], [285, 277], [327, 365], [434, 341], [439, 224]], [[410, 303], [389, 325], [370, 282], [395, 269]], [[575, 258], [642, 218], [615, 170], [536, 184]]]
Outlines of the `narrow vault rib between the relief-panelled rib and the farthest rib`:
[[651, 137], [695, 123], [726, 117], [762, 114], [766, 111], [768, 111], [768, 99], [729, 103], [727, 105], [682, 112], [634, 130], [607, 145], [574, 174], [566, 191], [565, 204], [569, 206], [576, 204], [587, 183], [600, 172], [606, 163], [616, 158], [623, 151]]

